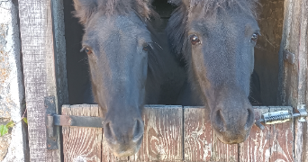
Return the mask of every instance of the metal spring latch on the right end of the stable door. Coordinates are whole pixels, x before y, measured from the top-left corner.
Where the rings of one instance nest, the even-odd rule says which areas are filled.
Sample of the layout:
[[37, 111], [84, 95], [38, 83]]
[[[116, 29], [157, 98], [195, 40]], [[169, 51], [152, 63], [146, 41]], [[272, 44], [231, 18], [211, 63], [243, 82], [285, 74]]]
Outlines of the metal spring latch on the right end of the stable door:
[[285, 121], [293, 120], [294, 118], [300, 117], [298, 121], [305, 121], [303, 117], [307, 116], [307, 112], [305, 109], [305, 105], [301, 104], [297, 107], [298, 113], [293, 113], [289, 111], [278, 111], [278, 112], [267, 112], [262, 114], [261, 118], [256, 121], [256, 125], [259, 129], [264, 130], [264, 125], [261, 124], [263, 122], [264, 124], [276, 124], [276, 123], [282, 123]]

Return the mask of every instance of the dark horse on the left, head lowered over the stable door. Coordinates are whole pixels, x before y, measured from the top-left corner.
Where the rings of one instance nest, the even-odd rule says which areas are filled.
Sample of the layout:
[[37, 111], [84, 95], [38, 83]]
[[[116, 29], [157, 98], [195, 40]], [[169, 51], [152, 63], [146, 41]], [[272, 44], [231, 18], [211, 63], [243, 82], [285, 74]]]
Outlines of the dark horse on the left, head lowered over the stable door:
[[74, 6], [84, 26], [82, 50], [90, 69], [85, 94], [94, 96], [86, 103], [100, 105], [104, 138], [113, 154], [131, 156], [143, 137], [143, 106], [159, 103], [160, 87], [172, 72], [168, 66], [177, 62], [149, 24], [159, 20], [149, 1], [74, 0]]

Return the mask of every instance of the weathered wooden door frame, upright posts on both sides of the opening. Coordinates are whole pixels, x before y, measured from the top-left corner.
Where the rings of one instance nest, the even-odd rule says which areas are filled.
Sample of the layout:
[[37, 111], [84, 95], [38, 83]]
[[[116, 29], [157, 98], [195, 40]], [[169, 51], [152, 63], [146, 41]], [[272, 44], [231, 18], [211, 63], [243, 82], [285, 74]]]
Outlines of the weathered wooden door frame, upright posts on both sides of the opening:
[[[44, 97], [53, 96], [57, 112], [68, 103], [63, 0], [18, 0], [23, 72], [29, 122], [31, 161], [61, 161], [61, 148], [46, 149]], [[284, 31], [279, 52], [278, 104], [307, 104], [308, 2], [285, 0]], [[283, 50], [294, 53], [293, 65]], [[59, 130], [57, 136], [59, 137]], [[308, 160], [308, 127], [294, 121], [295, 161]], [[303, 144], [304, 143], [304, 144]], [[60, 143], [59, 143], [59, 146]]]

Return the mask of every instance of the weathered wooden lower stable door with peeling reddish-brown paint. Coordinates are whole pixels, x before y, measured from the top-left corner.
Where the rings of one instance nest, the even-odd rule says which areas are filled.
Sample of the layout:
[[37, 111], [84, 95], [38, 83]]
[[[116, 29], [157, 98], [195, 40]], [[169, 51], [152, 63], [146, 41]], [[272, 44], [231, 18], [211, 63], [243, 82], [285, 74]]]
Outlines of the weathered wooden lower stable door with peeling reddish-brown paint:
[[[254, 107], [258, 120], [265, 112], [292, 111], [291, 107]], [[63, 115], [98, 116], [92, 104], [64, 105]], [[144, 136], [139, 152], [114, 157], [104, 141], [103, 129], [63, 127], [64, 161], [294, 161], [293, 121], [256, 125], [241, 144], [223, 144], [211, 128], [209, 111], [203, 107], [149, 105], [143, 114]]]

